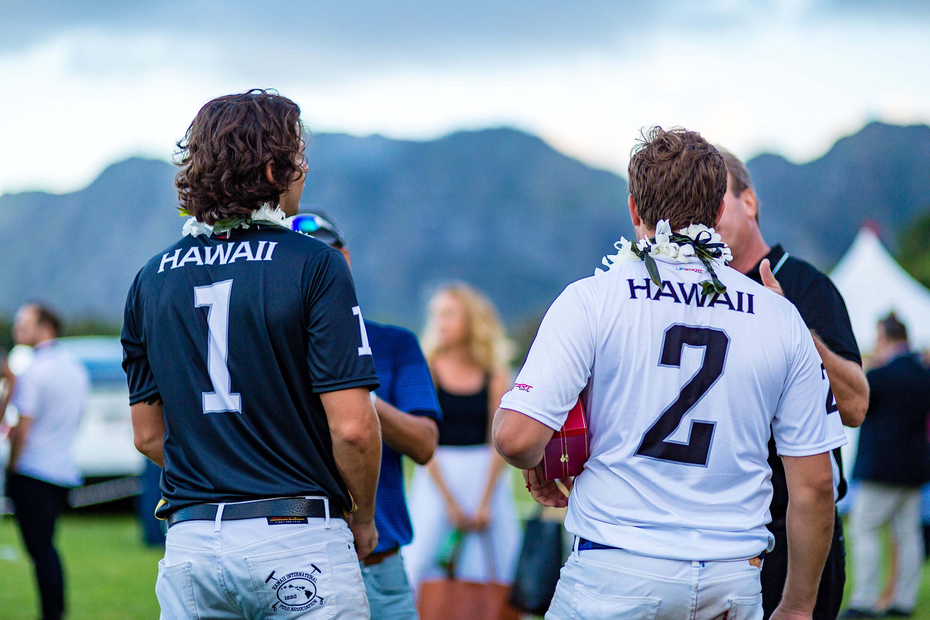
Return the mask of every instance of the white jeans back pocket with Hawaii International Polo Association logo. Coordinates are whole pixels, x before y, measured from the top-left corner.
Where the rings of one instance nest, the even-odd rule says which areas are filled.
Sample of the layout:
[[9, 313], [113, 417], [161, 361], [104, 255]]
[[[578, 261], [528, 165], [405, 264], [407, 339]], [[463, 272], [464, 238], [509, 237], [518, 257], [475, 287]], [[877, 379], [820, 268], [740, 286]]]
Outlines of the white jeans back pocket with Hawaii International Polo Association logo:
[[314, 620], [326, 620], [336, 615], [326, 547], [321, 543], [246, 558], [264, 617], [278, 612], [288, 612], [291, 618], [312, 613]]

